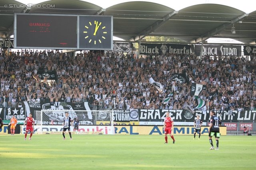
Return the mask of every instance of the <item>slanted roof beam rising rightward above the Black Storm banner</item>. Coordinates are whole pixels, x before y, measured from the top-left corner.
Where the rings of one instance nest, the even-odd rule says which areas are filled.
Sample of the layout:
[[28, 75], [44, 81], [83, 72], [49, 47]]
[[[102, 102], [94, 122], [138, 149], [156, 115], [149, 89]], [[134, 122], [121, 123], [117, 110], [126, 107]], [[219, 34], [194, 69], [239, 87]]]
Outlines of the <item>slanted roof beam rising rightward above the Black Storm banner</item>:
[[199, 43], [199, 42], [202, 42], [202, 41], [205, 41], [206, 39], [216, 35], [217, 33], [219, 33], [220, 31], [223, 31], [224, 29], [232, 26], [234, 23], [237, 23], [238, 21], [240, 21], [241, 19], [247, 17], [249, 14], [243, 14], [241, 16], [238, 16], [237, 18], [234, 18], [233, 20], [231, 20], [231, 22], [229, 23], [224, 23], [210, 31], [208, 31], [207, 33], [205, 33], [204, 35], [202, 35], [201, 37], [199, 37], [198, 39], [196, 40], [192, 40], [190, 41], [191, 43]]

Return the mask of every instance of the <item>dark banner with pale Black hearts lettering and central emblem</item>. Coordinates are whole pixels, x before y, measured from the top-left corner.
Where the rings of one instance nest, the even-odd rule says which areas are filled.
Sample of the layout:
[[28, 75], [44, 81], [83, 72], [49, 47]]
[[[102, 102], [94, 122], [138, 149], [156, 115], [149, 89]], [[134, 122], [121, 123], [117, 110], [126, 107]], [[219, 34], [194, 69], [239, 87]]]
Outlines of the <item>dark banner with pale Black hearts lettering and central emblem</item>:
[[177, 54], [190, 54], [191, 45], [184, 44], [140, 44], [140, 54], [153, 55], [158, 53], [159, 55], [166, 55], [166, 53], [177, 53]]

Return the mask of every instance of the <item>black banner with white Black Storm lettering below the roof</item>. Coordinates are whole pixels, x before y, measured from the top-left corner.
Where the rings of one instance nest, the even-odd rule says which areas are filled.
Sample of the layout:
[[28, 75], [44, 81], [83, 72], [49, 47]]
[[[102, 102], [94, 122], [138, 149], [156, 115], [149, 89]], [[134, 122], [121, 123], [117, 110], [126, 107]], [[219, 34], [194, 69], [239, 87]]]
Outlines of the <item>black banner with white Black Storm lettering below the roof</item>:
[[[195, 53], [200, 56], [201, 45], [195, 45]], [[203, 45], [202, 55], [234, 55], [242, 56], [242, 46], [241, 45]]]

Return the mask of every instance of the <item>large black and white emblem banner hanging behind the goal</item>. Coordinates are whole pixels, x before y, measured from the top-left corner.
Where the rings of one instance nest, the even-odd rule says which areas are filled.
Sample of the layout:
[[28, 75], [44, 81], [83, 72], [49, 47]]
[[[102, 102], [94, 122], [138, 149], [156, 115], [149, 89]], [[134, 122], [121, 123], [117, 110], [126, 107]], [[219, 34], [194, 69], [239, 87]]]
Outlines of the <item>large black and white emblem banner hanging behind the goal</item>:
[[[88, 106], [88, 102], [54, 102], [50, 103], [36, 103], [36, 102], [23, 102], [26, 108], [27, 116], [29, 113], [32, 113], [33, 117], [36, 121], [41, 121], [41, 118], [38, 117], [38, 113], [41, 113], [41, 109], [49, 110], [43, 111], [43, 125], [51, 125], [51, 122], [54, 125], [62, 125], [65, 110], [74, 110], [68, 111], [68, 115], [71, 119], [78, 117], [78, 121], [80, 125], [95, 125], [96, 124], [96, 114], [92, 114], [90, 107]], [[76, 111], [83, 110], [83, 111]]]

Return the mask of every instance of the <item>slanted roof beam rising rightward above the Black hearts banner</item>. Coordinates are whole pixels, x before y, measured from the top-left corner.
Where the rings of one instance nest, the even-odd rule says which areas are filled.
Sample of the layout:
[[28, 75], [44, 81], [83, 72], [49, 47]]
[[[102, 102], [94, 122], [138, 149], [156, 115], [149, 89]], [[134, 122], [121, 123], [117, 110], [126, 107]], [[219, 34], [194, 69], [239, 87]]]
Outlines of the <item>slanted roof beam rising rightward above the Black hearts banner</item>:
[[141, 31], [136, 37], [133, 37], [129, 41], [138, 41], [140, 39], [143, 39], [146, 37], [148, 34], [150, 34], [152, 31], [154, 31], [156, 28], [160, 27], [162, 24], [164, 24], [166, 21], [168, 21], [170, 18], [178, 14], [178, 11], [171, 12], [170, 14], [164, 16], [162, 20], [158, 20], [143, 31]]

